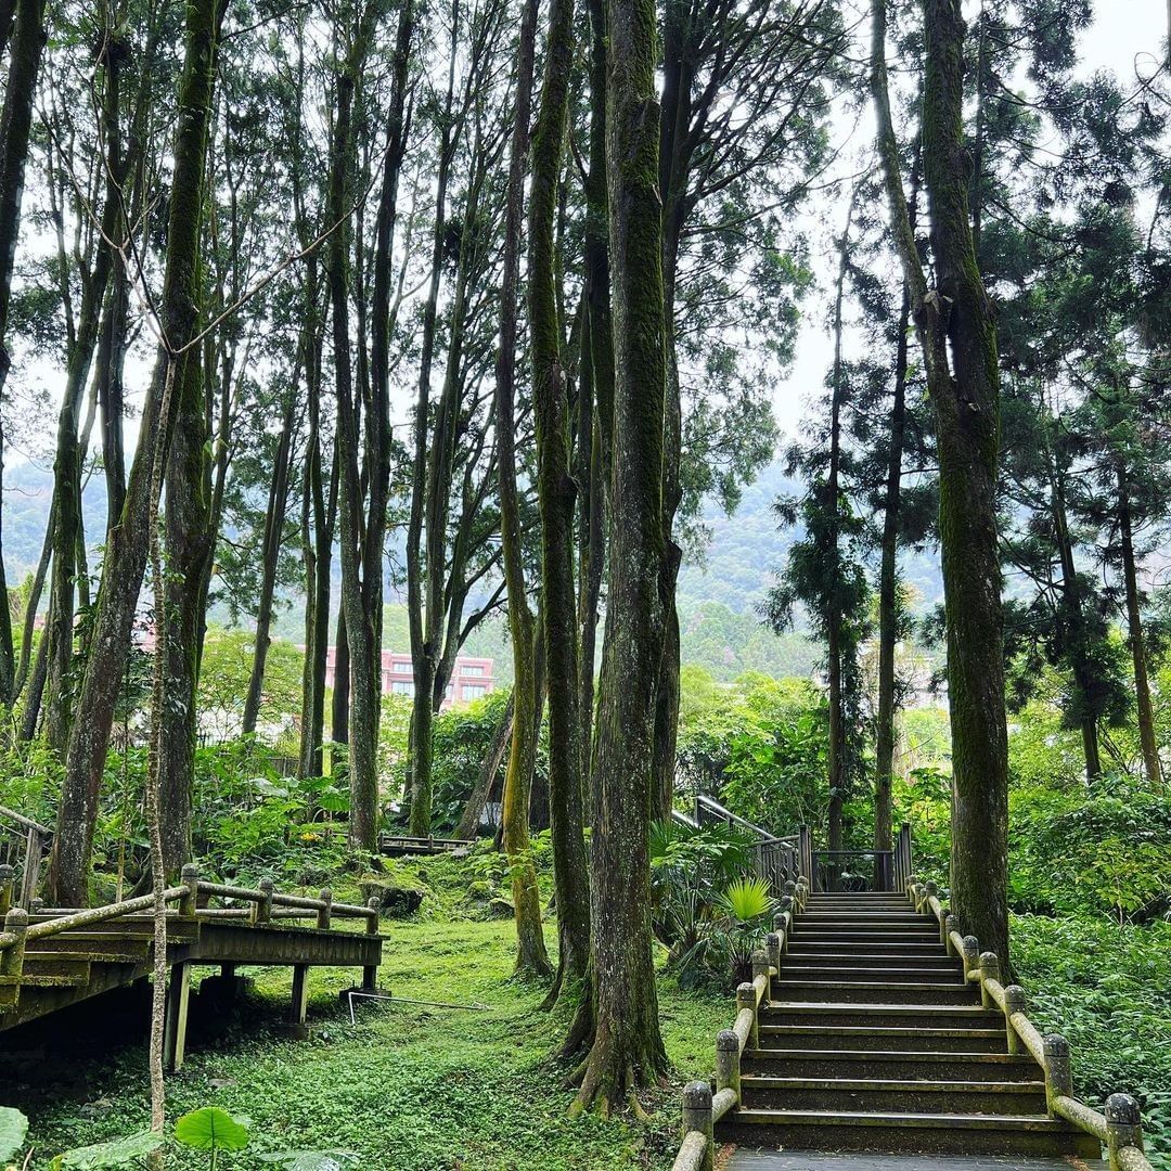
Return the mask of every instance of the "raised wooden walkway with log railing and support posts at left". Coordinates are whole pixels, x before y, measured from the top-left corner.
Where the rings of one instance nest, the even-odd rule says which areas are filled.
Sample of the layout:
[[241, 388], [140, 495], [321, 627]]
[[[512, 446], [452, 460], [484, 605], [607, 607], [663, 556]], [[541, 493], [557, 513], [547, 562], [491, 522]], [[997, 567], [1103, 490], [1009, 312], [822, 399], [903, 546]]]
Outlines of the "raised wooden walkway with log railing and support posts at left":
[[[85, 910], [16, 905], [26, 886], [12, 867], [0, 867], [0, 1033], [152, 973], [153, 895]], [[266, 881], [258, 889], [204, 882], [192, 865], [164, 898], [172, 1069], [183, 1064], [194, 965], [218, 966], [228, 978], [242, 965], [292, 967], [294, 1028], [304, 1026], [310, 967], [359, 967], [362, 987], [374, 988], [383, 943], [377, 899], [357, 906], [335, 903], [328, 890], [304, 898]], [[335, 919], [364, 920], [364, 931], [340, 930]]]

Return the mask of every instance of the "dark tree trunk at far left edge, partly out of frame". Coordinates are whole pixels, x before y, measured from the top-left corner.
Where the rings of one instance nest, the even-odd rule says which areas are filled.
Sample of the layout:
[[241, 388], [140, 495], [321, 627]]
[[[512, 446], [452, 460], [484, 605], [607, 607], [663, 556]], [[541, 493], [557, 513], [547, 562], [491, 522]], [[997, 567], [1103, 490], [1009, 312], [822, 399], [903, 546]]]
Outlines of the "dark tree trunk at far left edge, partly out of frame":
[[[8, 87], [0, 110], [0, 398], [8, 381], [8, 307], [20, 235], [20, 205], [25, 193], [25, 160], [36, 100], [36, 75], [44, 48], [44, 0], [16, 0], [8, 55]], [[0, 480], [4, 478], [4, 432], [0, 430]], [[2, 509], [0, 509], [2, 518]], [[2, 550], [0, 541], [0, 550]], [[8, 582], [0, 554], [0, 706], [12, 705], [15, 676]]]

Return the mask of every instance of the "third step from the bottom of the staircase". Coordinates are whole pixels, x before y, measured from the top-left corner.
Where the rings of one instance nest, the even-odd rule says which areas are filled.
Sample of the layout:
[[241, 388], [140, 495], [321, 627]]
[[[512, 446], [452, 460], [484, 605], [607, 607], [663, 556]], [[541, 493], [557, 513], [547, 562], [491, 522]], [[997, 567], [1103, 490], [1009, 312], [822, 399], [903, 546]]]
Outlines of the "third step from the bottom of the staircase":
[[[1041, 1076], [1032, 1057], [979, 1050], [745, 1049], [741, 1070], [772, 1077], [879, 1077], [896, 1081], [1029, 1082]], [[815, 1046], [817, 1042], [815, 1042]]]

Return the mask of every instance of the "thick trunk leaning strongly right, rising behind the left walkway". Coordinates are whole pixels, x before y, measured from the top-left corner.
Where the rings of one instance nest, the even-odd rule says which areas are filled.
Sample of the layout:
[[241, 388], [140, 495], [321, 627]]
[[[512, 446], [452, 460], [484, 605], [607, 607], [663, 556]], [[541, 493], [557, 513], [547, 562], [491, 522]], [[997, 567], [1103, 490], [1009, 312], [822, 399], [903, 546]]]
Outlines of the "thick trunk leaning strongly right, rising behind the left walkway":
[[179, 84], [184, 117], [174, 141], [174, 173], [160, 299], [163, 344], [143, 406], [125, 505], [111, 528], [85, 669], [66, 753], [64, 779], [49, 868], [50, 898], [80, 906], [88, 897], [90, 854], [114, 710], [130, 649], [131, 628], [150, 549], [156, 463], [165, 466], [179, 412], [176, 367], [196, 331], [204, 163], [214, 84], [215, 44], [224, 9], [219, 0], [187, 8], [186, 57]]

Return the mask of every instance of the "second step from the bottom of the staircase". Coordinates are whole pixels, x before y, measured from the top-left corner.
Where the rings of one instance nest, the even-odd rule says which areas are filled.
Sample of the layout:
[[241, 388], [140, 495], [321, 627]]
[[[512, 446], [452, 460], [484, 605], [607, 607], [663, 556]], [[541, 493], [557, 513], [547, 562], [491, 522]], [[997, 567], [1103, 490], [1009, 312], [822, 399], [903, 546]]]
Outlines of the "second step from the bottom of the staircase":
[[1045, 1081], [893, 1077], [793, 1077], [748, 1074], [749, 1110], [845, 1110], [913, 1114], [1045, 1114]]

